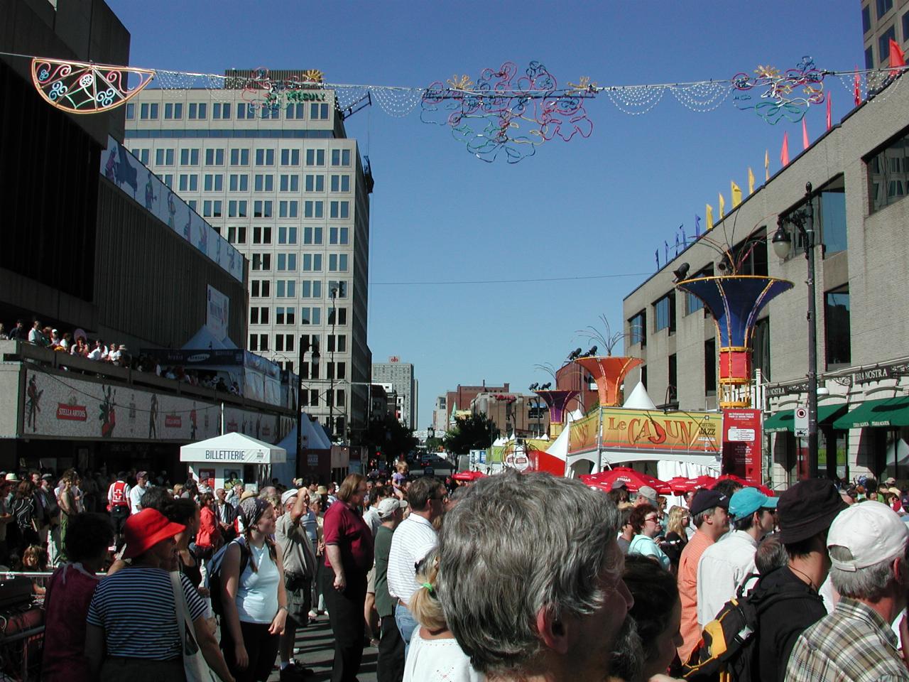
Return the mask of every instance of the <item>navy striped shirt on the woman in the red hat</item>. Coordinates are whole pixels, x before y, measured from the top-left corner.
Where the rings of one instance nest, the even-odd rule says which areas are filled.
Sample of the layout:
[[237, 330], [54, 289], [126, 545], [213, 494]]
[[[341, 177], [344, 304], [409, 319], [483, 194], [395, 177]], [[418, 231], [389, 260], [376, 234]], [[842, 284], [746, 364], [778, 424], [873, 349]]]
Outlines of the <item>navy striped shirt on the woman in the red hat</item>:
[[[190, 616], [205, 615], [205, 600], [180, 576]], [[108, 657], [171, 660], [181, 656], [174, 589], [163, 568], [125, 567], [98, 583], [89, 625], [103, 627]]]

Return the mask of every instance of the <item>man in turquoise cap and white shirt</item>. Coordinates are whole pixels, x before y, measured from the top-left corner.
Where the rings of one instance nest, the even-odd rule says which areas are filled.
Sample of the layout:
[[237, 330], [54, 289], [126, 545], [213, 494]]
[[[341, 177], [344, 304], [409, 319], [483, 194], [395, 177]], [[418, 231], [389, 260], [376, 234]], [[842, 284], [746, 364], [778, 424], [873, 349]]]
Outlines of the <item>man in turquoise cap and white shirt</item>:
[[756, 573], [754, 553], [774, 529], [778, 497], [765, 496], [756, 487], [737, 490], [729, 501], [732, 530], [723, 542], [704, 550], [697, 564], [697, 623], [712, 621], [735, 596], [744, 578]]

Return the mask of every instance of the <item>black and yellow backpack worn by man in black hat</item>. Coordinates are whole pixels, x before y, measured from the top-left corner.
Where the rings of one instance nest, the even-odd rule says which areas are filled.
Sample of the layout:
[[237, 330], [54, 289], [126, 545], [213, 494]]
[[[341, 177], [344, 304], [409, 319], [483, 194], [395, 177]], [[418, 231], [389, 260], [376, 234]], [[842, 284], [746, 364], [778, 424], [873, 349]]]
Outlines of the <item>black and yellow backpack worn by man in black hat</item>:
[[761, 614], [786, 599], [821, 599], [804, 584], [783, 585], [773, 592], [760, 590], [760, 578], [745, 597], [745, 589], [754, 577], [758, 577], [757, 574], [746, 576], [735, 597], [727, 601], [714, 620], [704, 626], [701, 640], [683, 663], [684, 679], [692, 682], [751, 682], [756, 679], [754, 673]]

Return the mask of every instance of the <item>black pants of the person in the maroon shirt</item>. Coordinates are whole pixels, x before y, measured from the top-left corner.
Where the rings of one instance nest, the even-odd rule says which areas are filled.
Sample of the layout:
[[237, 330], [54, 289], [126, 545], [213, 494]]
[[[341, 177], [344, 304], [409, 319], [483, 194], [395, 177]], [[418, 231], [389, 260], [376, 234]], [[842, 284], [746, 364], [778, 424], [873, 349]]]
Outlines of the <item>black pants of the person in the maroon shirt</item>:
[[335, 589], [335, 571], [326, 568], [322, 577], [328, 622], [335, 634], [335, 665], [332, 682], [355, 682], [363, 658], [366, 624], [363, 610], [366, 603], [366, 574], [361, 571], [345, 573], [344, 592]]

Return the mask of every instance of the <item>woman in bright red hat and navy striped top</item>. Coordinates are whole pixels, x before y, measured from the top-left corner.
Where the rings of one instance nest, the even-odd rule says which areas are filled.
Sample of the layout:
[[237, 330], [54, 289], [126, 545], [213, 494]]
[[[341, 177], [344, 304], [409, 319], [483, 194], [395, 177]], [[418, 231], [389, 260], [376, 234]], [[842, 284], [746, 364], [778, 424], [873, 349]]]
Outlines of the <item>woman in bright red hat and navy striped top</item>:
[[[124, 557], [132, 563], [102, 580], [88, 607], [85, 655], [93, 678], [185, 680], [169, 574], [176, 568], [174, 536], [184, 529], [150, 508], [126, 520]], [[205, 662], [225, 682], [235, 682], [205, 619], [205, 600], [183, 575], [181, 585]]]

